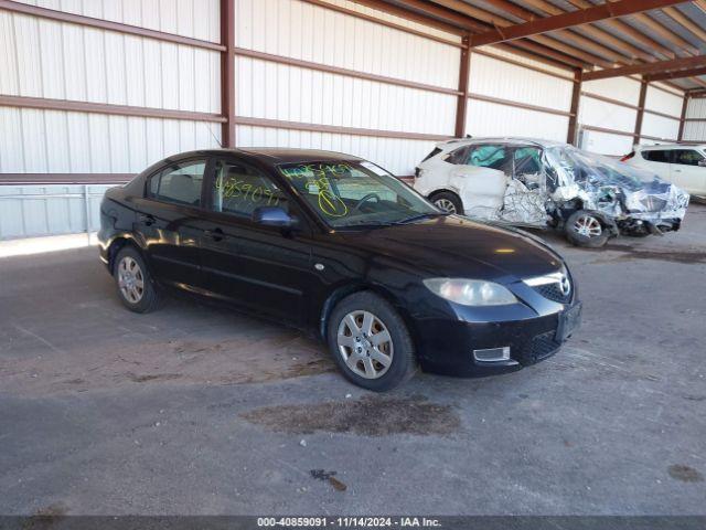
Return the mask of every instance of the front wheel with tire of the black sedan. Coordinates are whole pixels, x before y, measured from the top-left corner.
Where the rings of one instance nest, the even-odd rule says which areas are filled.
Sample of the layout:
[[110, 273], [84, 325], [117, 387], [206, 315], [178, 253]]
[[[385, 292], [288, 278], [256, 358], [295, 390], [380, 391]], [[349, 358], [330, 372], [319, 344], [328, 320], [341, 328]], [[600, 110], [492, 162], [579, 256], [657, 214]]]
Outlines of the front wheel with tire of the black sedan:
[[341, 300], [329, 318], [329, 349], [343, 375], [352, 383], [385, 392], [416, 371], [409, 330], [395, 308], [370, 293]]

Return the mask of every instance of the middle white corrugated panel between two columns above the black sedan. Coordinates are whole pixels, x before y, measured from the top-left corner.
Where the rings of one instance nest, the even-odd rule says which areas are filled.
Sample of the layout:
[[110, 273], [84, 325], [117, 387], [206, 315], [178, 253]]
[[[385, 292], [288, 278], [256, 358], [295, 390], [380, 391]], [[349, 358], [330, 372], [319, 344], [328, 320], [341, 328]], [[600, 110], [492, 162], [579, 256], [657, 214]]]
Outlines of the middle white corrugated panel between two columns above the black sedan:
[[457, 97], [237, 57], [237, 115], [452, 135]]

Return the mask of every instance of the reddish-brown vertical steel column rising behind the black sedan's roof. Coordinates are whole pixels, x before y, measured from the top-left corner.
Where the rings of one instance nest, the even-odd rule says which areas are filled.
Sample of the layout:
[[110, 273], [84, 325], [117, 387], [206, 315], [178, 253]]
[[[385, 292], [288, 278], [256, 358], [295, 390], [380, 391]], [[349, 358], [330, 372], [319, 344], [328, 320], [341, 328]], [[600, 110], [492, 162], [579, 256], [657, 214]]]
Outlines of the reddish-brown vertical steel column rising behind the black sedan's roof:
[[223, 147], [235, 147], [235, 0], [221, 0], [221, 114]]

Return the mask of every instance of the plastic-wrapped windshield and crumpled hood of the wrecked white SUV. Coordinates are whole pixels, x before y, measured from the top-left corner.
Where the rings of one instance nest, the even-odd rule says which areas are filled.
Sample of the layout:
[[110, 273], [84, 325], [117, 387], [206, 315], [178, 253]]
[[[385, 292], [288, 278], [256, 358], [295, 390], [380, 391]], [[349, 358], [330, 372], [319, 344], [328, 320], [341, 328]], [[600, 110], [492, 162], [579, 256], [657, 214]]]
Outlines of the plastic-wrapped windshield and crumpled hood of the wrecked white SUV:
[[560, 177], [566, 183], [613, 184], [638, 190], [646, 183], [660, 180], [650, 171], [575, 147], [548, 148], [546, 158], [555, 171], [563, 173]]

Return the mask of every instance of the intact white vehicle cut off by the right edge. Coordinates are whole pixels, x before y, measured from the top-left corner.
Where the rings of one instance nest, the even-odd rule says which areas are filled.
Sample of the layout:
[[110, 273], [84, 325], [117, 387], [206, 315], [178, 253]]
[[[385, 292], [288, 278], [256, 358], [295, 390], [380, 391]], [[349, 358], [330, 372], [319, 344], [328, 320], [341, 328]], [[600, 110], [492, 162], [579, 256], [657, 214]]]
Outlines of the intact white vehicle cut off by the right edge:
[[635, 146], [621, 161], [649, 169], [689, 194], [706, 199], [706, 145]]

